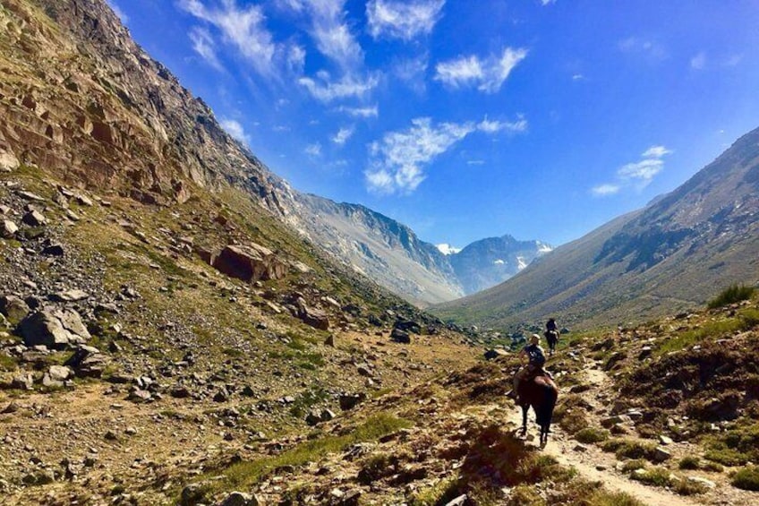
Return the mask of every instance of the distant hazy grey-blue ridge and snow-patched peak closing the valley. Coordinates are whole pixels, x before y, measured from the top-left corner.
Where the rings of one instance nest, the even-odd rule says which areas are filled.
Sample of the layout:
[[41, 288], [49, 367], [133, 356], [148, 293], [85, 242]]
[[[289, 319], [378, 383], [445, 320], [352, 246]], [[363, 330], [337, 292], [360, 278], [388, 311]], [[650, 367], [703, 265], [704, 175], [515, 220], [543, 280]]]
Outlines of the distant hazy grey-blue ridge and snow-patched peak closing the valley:
[[[414, 231], [361, 205], [294, 193], [288, 220], [338, 259], [422, 307], [495, 286], [548, 253], [540, 241], [511, 236], [475, 241], [444, 254]], [[306, 217], [306, 219], [303, 219]]]

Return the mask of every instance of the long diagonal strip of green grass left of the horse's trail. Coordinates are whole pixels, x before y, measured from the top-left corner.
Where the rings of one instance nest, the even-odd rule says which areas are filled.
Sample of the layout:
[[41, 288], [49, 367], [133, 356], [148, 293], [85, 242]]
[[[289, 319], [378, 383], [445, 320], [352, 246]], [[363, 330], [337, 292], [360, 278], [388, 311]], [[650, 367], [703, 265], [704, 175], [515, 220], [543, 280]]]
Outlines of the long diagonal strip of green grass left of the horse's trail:
[[351, 433], [340, 436], [325, 436], [303, 442], [279, 455], [233, 464], [226, 469], [206, 476], [207, 478], [218, 476], [218, 479], [214, 479], [207, 486], [209, 492], [250, 489], [277, 467], [303, 466], [307, 462], [323, 459], [328, 453], [343, 451], [360, 442], [377, 441], [383, 435], [394, 433], [412, 425], [408, 420], [392, 415], [372, 416], [362, 425], [355, 427]]

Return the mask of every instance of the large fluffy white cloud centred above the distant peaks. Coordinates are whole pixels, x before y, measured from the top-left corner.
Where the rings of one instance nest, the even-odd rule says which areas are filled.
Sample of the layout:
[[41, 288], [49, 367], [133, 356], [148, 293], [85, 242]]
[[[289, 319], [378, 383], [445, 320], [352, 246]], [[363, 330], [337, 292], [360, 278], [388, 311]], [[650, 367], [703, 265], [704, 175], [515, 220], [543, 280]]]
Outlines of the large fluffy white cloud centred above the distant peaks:
[[369, 189], [378, 193], [412, 193], [425, 178], [424, 167], [475, 131], [473, 123], [432, 124], [428, 117], [412, 120], [408, 130], [385, 133], [371, 144], [371, 167], [364, 173]]

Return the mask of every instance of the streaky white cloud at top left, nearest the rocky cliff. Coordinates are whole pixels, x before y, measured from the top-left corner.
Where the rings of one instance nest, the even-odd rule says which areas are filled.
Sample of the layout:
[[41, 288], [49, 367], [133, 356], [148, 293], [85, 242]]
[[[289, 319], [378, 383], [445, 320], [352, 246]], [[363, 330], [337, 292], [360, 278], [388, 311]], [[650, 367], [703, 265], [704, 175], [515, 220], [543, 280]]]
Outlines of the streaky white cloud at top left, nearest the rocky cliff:
[[260, 5], [238, 8], [236, 0], [224, 0], [219, 9], [208, 8], [200, 0], [179, 0], [178, 4], [196, 18], [215, 26], [226, 43], [236, 47], [258, 73], [274, 74], [274, 59], [282, 47], [277, 46], [264, 27], [266, 17]]

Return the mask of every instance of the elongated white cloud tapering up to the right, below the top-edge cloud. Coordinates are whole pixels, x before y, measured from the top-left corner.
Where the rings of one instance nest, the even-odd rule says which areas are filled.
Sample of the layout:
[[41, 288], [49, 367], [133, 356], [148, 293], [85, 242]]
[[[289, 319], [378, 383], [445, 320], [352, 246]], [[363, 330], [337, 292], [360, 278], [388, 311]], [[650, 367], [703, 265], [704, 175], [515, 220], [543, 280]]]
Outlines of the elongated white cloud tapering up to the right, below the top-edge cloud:
[[437, 64], [434, 80], [452, 88], [476, 86], [477, 90], [485, 93], [495, 93], [526, 56], [526, 49], [513, 47], [505, 47], [500, 55], [486, 58], [461, 56]]

